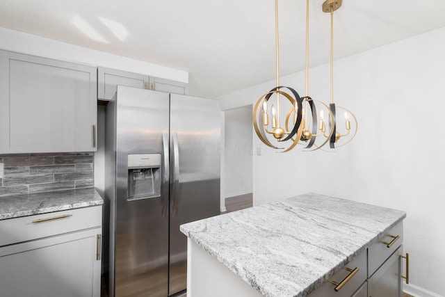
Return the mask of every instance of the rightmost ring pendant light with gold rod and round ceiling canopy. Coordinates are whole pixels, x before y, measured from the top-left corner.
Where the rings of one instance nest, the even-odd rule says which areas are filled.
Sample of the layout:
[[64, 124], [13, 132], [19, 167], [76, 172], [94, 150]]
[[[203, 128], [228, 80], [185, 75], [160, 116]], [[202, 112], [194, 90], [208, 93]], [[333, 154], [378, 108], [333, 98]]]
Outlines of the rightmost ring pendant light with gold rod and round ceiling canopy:
[[[339, 9], [341, 7], [343, 0], [326, 0], [323, 3], [322, 10], [324, 13], [330, 13], [331, 16], [331, 42], [330, 42], [330, 111], [333, 115], [332, 120], [330, 120], [329, 124], [330, 127], [333, 129], [333, 133], [330, 136], [330, 148], [335, 148], [335, 144], [337, 144], [337, 147], [346, 145], [350, 141], [353, 140], [355, 135], [357, 134], [358, 129], [358, 122], [357, 118], [355, 118], [355, 115], [349, 110], [341, 106], [336, 106], [334, 103], [334, 11]], [[339, 132], [339, 129], [337, 127], [337, 110], [341, 109], [344, 111], [344, 120], [345, 120], [345, 128], [346, 132], [344, 134], [341, 134]], [[353, 133], [351, 134], [351, 122], [350, 118], [353, 119]], [[321, 125], [324, 125], [321, 124]], [[340, 141], [343, 140], [343, 141]]]

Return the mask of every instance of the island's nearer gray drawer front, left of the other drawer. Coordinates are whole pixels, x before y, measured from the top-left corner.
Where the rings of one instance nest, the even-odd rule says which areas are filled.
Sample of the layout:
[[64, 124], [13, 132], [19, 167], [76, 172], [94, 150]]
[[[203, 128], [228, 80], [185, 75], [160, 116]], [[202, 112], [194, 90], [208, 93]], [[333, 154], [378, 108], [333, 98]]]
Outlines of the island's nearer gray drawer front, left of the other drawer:
[[[335, 291], [335, 288], [337, 287], [335, 284], [332, 284], [332, 282], [337, 282], [338, 284], [345, 280], [348, 275], [350, 275], [351, 271], [346, 270], [346, 268], [349, 268], [350, 270], [355, 270], [357, 268], [357, 272], [355, 275], [353, 275], [346, 284], [344, 284], [339, 291]], [[341, 268], [340, 271], [337, 271], [332, 277], [323, 282], [321, 287], [313, 291], [311, 294], [309, 294], [309, 297], [326, 297], [326, 296], [332, 296], [332, 297], [350, 297], [354, 294], [357, 289], [359, 289], [360, 286], [366, 281], [366, 250], [362, 252], [360, 255], [358, 255], [353, 261], [349, 262]]]

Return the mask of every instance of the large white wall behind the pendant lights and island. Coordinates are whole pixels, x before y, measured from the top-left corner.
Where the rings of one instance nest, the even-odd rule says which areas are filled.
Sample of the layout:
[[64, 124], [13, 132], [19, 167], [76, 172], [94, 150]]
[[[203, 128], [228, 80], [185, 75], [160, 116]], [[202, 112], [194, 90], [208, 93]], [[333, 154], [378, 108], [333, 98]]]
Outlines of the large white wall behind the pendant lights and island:
[[[254, 204], [310, 191], [406, 211], [410, 282], [443, 296], [444, 40], [445, 28], [335, 61], [335, 102], [359, 120], [356, 138], [337, 152], [277, 154], [254, 143], [263, 152], [254, 156]], [[304, 93], [304, 75], [281, 83]], [[309, 75], [310, 95], [329, 102], [329, 65]], [[256, 102], [274, 83], [221, 97], [223, 109]]]

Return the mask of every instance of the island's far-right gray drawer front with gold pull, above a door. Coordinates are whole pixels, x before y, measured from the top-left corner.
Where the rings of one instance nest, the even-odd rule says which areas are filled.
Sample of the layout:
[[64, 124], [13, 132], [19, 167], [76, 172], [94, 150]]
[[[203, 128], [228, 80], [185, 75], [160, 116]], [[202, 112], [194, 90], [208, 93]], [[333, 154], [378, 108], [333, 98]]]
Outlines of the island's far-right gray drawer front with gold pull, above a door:
[[[391, 243], [392, 244], [389, 244]], [[388, 259], [403, 243], [403, 221], [391, 228], [376, 243], [368, 248], [368, 278]], [[389, 247], [388, 247], [389, 246]]]

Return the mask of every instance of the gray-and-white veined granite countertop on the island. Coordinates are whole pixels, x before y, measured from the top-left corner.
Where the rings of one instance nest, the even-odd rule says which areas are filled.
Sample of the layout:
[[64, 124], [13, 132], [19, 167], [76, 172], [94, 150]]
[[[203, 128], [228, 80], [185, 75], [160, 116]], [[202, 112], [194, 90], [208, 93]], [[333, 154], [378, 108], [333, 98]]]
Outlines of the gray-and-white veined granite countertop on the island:
[[264, 296], [306, 296], [405, 216], [307, 193], [180, 228]]

